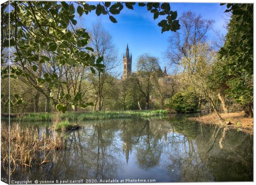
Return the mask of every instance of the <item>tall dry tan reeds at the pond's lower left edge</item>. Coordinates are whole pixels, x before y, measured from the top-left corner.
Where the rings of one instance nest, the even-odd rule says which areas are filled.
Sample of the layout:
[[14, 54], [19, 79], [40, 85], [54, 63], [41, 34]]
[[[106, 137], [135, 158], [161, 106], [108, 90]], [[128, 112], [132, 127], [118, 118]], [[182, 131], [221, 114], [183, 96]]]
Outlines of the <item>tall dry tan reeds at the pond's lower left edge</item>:
[[[8, 147], [10, 141], [10, 173], [17, 169], [24, 171], [34, 164], [44, 164], [51, 150], [63, 148], [62, 139], [55, 134], [53, 138], [40, 136], [37, 129], [21, 129], [17, 125], [10, 128], [10, 140], [8, 127], [1, 125], [1, 162], [5, 171], [8, 170]], [[45, 158], [39, 161], [39, 152], [43, 152]], [[46, 153], [48, 154], [46, 155]]]

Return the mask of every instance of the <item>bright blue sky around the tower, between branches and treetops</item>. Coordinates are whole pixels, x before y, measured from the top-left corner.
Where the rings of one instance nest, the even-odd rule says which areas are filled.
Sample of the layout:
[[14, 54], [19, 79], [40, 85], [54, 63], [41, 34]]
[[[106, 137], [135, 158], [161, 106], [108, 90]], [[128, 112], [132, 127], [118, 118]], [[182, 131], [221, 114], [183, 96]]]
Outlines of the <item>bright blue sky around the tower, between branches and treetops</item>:
[[[88, 2], [96, 4], [95, 2]], [[223, 28], [226, 15], [223, 13], [226, 6], [220, 6], [220, 3], [171, 3], [171, 10], [178, 12], [178, 17], [182, 12], [192, 11], [201, 14], [204, 19], [213, 19], [215, 21], [213, 28], [225, 34], [227, 30]], [[101, 19], [104, 28], [108, 30], [113, 38], [113, 43], [119, 49], [120, 60], [126, 51], [128, 43], [130, 53], [133, 55], [132, 70], [135, 71], [136, 59], [143, 53], [150, 53], [159, 58], [160, 66], [168, 65], [163, 52], [168, 46], [168, 38], [172, 32], [161, 33], [161, 28], [157, 25], [164, 16], [153, 19], [153, 14], [147, 11], [146, 7], [135, 5], [134, 10], [123, 8], [119, 15], [114, 16], [118, 23], [112, 23], [107, 15], [97, 16], [95, 12], [89, 13], [81, 18], [81, 23], [85, 28], [91, 28], [92, 23]], [[209, 32], [208, 38], [213, 39], [214, 32]], [[122, 64], [122, 60], [120, 61]], [[118, 67], [122, 70], [123, 65]]]

